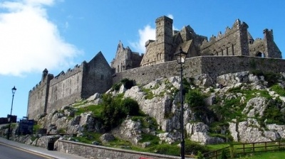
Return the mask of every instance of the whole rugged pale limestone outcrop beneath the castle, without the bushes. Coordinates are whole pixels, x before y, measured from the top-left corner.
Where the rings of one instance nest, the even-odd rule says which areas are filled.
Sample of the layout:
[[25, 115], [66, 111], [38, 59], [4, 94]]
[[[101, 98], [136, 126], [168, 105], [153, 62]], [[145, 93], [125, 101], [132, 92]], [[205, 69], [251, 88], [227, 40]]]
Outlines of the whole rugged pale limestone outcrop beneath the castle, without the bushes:
[[[285, 78], [285, 72], [280, 75], [281, 77], [276, 79], [276, 85], [284, 89], [285, 80], [283, 78]], [[207, 97], [203, 100], [204, 106], [202, 107], [211, 111], [211, 113], [217, 113], [217, 116], [215, 116], [216, 114], [207, 114], [207, 112], [197, 115], [198, 113], [195, 112], [195, 109], [192, 110], [185, 98], [183, 104], [184, 116], [182, 118], [180, 116], [180, 77], [159, 78], [149, 84], [134, 86], [130, 89], [125, 89], [122, 84], [117, 91], [110, 89], [106, 93], [110, 93], [113, 96], [124, 93], [124, 98], [130, 97], [135, 99], [140, 106], [140, 110], [154, 118], [158, 126], [153, 124], [155, 126], [152, 125], [150, 128], [145, 126], [145, 121], [132, 121], [130, 117], [127, 117], [111, 133], [105, 133], [101, 136], [100, 140], [103, 143], [108, 142], [113, 140], [115, 136], [130, 141], [134, 145], [147, 147], [150, 146], [150, 142], [140, 143], [142, 133], [147, 133], [159, 137], [160, 142], [164, 141], [171, 144], [180, 141], [181, 120], [184, 121], [187, 138], [202, 144], [225, 142], [224, 138], [226, 136], [224, 138], [212, 137], [210, 132], [213, 131], [214, 133], [221, 133], [221, 135], [232, 136], [234, 141], [246, 143], [284, 139], [285, 125], [269, 124], [272, 123], [272, 120], [263, 119], [265, 115], [268, 116], [266, 114], [268, 112], [267, 109], [270, 106], [272, 107], [272, 104], [275, 104], [274, 100], [278, 102], [278, 105], [276, 105], [278, 112], [285, 112], [285, 97], [281, 93], [279, 94], [278, 91], [275, 92], [275, 89], [272, 89], [272, 87], [269, 87], [269, 82], [266, 81], [267, 77], [264, 76], [252, 75], [249, 72], [237, 72], [220, 75], [216, 79], [212, 79], [210, 75], [206, 74], [187, 79], [190, 83], [187, 87], [207, 94]], [[249, 90], [253, 91], [253, 93], [247, 94]], [[99, 104], [100, 102], [102, 102], [101, 95], [94, 94], [87, 99], [87, 102], [82, 100], [81, 108], [90, 104]], [[237, 116], [237, 119], [232, 119], [232, 116], [226, 116], [227, 119], [230, 118], [230, 122], [223, 123], [218, 128], [209, 128], [213, 121], [219, 121], [219, 119], [225, 117], [222, 112], [217, 110], [223, 108], [222, 106], [227, 106], [226, 108], [230, 111], [237, 111], [242, 117]], [[47, 133], [50, 134], [76, 133], [77, 136], [82, 137], [85, 136], [84, 131], [103, 132], [100, 120], [95, 118], [91, 112], [76, 114], [78, 108], [72, 105], [63, 106], [61, 109], [51, 111], [50, 114], [41, 114], [38, 116], [38, 124], [43, 126]], [[241, 111], [242, 114], [240, 114]], [[157, 134], [157, 130], [164, 131], [164, 133]], [[6, 132], [7, 130], [4, 130], [0, 132], [0, 135]], [[92, 139], [91, 137], [90, 139]], [[31, 137], [18, 136], [15, 140], [45, 147], [48, 138], [40, 137], [31, 141]], [[73, 139], [70, 138], [70, 140]], [[100, 144], [98, 141], [93, 141], [93, 143], [96, 145]]]

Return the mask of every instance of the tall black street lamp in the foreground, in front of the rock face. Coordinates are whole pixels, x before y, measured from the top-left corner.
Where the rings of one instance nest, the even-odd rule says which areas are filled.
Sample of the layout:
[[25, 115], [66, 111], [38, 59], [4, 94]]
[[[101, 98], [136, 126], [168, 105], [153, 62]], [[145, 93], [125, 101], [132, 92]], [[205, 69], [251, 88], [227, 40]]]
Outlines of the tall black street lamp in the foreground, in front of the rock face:
[[177, 53], [174, 54], [176, 57], [176, 60], [178, 62], [178, 64], [180, 64], [180, 102], [181, 102], [181, 158], [184, 159], [185, 158], [185, 140], [184, 140], [184, 124], [183, 124], [183, 116], [184, 116], [184, 109], [183, 109], [183, 67], [182, 64], [184, 64], [185, 59], [186, 59], [186, 55], [187, 53], [185, 53], [182, 48], [180, 47], [179, 51]]

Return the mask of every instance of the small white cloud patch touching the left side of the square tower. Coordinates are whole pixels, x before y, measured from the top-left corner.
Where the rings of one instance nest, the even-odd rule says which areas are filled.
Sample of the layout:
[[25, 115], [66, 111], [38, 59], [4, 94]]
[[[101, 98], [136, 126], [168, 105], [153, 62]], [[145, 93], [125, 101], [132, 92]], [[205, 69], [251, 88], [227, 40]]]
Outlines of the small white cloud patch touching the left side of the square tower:
[[138, 42], [130, 43], [130, 45], [135, 48], [135, 51], [145, 53], [145, 42], [147, 42], [147, 40], [155, 40], [155, 28], [151, 28], [151, 26], [147, 25], [145, 28], [139, 29], [138, 33], [140, 39]]

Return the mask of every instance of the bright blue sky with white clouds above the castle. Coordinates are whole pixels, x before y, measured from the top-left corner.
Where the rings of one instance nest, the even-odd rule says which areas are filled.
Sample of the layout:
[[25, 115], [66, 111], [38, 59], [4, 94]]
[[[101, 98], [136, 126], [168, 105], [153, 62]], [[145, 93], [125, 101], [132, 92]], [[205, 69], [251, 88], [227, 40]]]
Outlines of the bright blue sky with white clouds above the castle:
[[10, 114], [14, 86], [12, 114], [26, 116], [28, 92], [45, 68], [58, 75], [100, 51], [110, 63], [119, 41], [145, 53], [160, 16], [172, 18], [175, 30], [190, 25], [208, 39], [238, 18], [254, 39], [273, 29], [284, 58], [284, 7], [284, 0], [0, 0], [0, 117]]

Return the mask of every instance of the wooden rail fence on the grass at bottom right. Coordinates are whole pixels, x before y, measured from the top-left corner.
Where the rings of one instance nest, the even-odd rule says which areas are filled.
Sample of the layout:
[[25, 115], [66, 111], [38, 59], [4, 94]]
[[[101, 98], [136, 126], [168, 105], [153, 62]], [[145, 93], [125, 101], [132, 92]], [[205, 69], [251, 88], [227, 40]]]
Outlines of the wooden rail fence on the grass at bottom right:
[[[269, 142], [258, 142], [258, 143], [237, 143], [232, 144], [226, 148], [214, 150], [209, 153], [204, 153], [205, 159], [215, 158], [222, 156], [222, 153], [232, 153], [232, 155], [246, 154], [246, 153], [260, 153], [272, 150], [285, 150], [285, 141], [269, 141]], [[223, 152], [224, 151], [224, 152]]]

